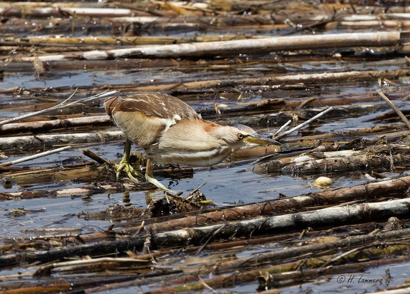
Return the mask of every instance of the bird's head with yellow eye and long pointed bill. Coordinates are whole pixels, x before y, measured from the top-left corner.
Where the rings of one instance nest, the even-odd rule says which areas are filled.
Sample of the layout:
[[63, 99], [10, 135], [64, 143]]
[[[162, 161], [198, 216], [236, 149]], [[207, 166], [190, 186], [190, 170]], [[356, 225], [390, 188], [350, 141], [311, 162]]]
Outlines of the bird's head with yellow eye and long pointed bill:
[[223, 126], [219, 128], [218, 134], [220, 139], [232, 147], [232, 151], [264, 145], [281, 145], [275, 140], [261, 137], [253, 128], [241, 124]]

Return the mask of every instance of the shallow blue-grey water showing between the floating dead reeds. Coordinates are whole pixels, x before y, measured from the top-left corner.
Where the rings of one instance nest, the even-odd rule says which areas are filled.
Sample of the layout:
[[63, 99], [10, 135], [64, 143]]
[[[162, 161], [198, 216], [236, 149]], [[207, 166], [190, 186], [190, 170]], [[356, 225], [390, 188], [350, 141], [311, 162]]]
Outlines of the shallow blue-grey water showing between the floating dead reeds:
[[[362, 70], [363, 68], [371, 68], [374, 70], [392, 70], [403, 67], [402, 64], [398, 65], [381, 65], [371, 66], [363, 62], [351, 62], [346, 66], [343, 63], [320, 63], [309, 62], [307, 64], [300, 63], [302, 69], [297, 69], [295, 66], [289, 66], [289, 64], [258, 64], [249, 66], [238, 66], [232, 69], [224, 69], [223, 67], [216, 67], [212, 71], [198, 70], [196, 72], [189, 72], [186, 69], [149, 69], [145, 71], [129, 71], [129, 70], [116, 70], [113, 72], [107, 71], [80, 71], [80, 72], [58, 72], [56, 74], [46, 74], [45, 77], [36, 78], [33, 73], [8, 73], [5, 75], [2, 82], [0, 82], [0, 89], [6, 89], [10, 87], [23, 87], [23, 88], [43, 88], [43, 87], [60, 87], [60, 86], [99, 86], [105, 84], [139, 84], [139, 83], [167, 83], [175, 81], [192, 81], [192, 80], [204, 80], [204, 79], [218, 79], [226, 78], [226, 76], [232, 75], [236, 79], [259, 77], [264, 74], [274, 74], [275, 69], [281, 68], [283, 72], [289, 73], [316, 73], [325, 71], [341, 71], [341, 70]], [[332, 88], [329, 85], [329, 93], [339, 93], [340, 95], [346, 95], [357, 92], [374, 92], [378, 87], [377, 81], [362, 83], [348, 83], [346, 85], [339, 85], [337, 88]], [[306, 97], [310, 95], [309, 91], [302, 92], [306, 94]], [[69, 95], [69, 93], [67, 93]], [[275, 95], [275, 91], [272, 91], [272, 95]], [[260, 92], [255, 92], [251, 99], [260, 99]], [[250, 99], [248, 99], [250, 100]], [[231, 103], [236, 101], [225, 101], [222, 98], [215, 100], [217, 103]], [[0, 96], [0, 102], [14, 103], [15, 96], [2, 95]], [[203, 102], [200, 98], [194, 99], [191, 103], [196, 109], [203, 107], [213, 107], [214, 101]], [[407, 102], [402, 101], [397, 104], [398, 106], [406, 106]], [[311, 127], [317, 129], [320, 132], [341, 132], [344, 130], [355, 130], [365, 127], [372, 127], [377, 125], [374, 122], [365, 122], [377, 115], [380, 115], [387, 110], [385, 106], [380, 109], [358, 117], [346, 117], [338, 120], [319, 121], [314, 123]], [[16, 115], [15, 112], [2, 111], [2, 117], [11, 117]], [[112, 127], [108, 129], [114, 130]], [[272, 133], [276, 130], [276, 127], [267, 128], [263, 126], [259, 130], [263, 130], [265, 134]], [[297, 134], [289, 136], [295, 137]], [[377, 135], [370, 134], [365, 139], [374, 139]], [[124, 143], [107, 143], [107, 144], [93, 144], [86, 147], [91, 151], [103, 156], [107, 160], [118, 159], [118, 153], [123, 152]], [[296, 148], [297, 144], [286, 145], [285, 148]], [[59, 154], [50, 155], [42, 159], [34, 160], [31, 162], [19, 164], [16, 166], [33, 166], [33, 167], [46, 167], [61, 165], [63, 161], [70, 160], [70, 162], [82, 162], [89, 160], [81, 153], [81, 149], [84, 146], [73, 147], [70, 151], [65, 151]], [[133, 151], [138, 150], [135, 146], [132, 147]], [[19, 158], [26, 156], [26, 152], [17, 151], [7, 155], [11, 158]], [[259, 175], [251, 172], [254, 165], [246, 162], [241, 164], [230, 163], [227, 165], [220, 165], [209, 169], [197, 168], [194, 171], [192, 178], [167, 178], [158, 177], [161, 183], [169, 186], [172, 190], [183, 191], [183, 195], [187, 195], [190, 191], [197, 188], [199, 185], [207, 182], [200, 190], [206, 195], [207, 199], [212, 199], [215, 206], [235, 206], [241, 203], [258, 202], [264, 200], [278, 199], [279, 193], [285, 196], [294, 196], [299, 194], [305, 194], [309, 192], [315, 192], [319, 189], [312, 185], [314, 177], [316, 176], [293, 176], [293, 175]], [[348, 187], [364, 183], [362, 178], [350, 176], [350, 174], [330, 174], [333, 179], [332, 187]], [[74, 188], [81, 187], [86, 183], [74, 183], [59, 181], [56, 183], [39, 183], [30, 187], [14, 186], [11, 189], [5, 189], [0, 187], [0, 192], [16, 192], [23, 190], [56, 190], [61, 188]], [[81, 212], [101, 212], [106, 211], [109, 206], [114, 205], [130, 205], [135, 208], [146, 208], [147, 202], [150, 201], [152, 191], [136, 191], [130, 192], [129, 195], [124, 193], [99, 193], [93, 194], [87, 197], [47, 197], [37, 199], [27, 199], [20, 201], [3, 201], [0, 202], [0, 244], [7, 241], [8, 238], [17, 237], [35, 237], [38, 235], [45, 235], [47, 233], [41, 231], [41, 229], [47, 228], [79, 228], [81, 233], [90, 233], [106, 230], [109, 225], [112, 224], [110, 220], [101, 220], [97, 218], [91, 218], [89, 220], [78, 217]], [[155, 193], [154, 193], [155, 196]], [[127, 198], [129, 197], [129, 198]], [[15, 216], [10, 214], [13, 209], [26, 210], [23, 215]], [[117, 223], [114, 223], [117, 224]], [[126, 224], [123, 221], [121, 224]], [[273, 246], [274, 247], [274, 246]], [[236, 257], [249, 256], [258, 252], [266, 250], [273, 250], [273, 248], [265, 248], [263, 246], [253, 246], [247, 248], [244, 251], [238, 250], [234, 253]], [[203, 253], [206, 256], [208, 253]], [[392, 274], [393, 284], [399, 284], [404, 281], [407, 276], [405, 266], [408, 263], [389, 265]], [[387, 266], [381, 266], [376, 268], [370, 268], [366, 271], [366, 276], [371, 278], [383, 277], [384, 269]], [[16, 271], [24, 272], [25, 269], [10, 269], [2, 271], [2, 275], [13, 274]], [[356, 274], [352, 274], [356, 275]], [[363, 292], [365, 290], [376, 290], [383, 288], [377, 285], [368, 284], [346, 284], [339, 285], [336, 282], [337, 277], [323, 277], [320, 281], [312, 283], [304, 283], [301, 286], [293, 286], [286, 288], [286, 292], [289, 293], [301, 293], [305, 291], [312, 291], [317, 293], [324, 292]], [[250, 283], [244, 286], [236, 286], [232, 288], [238, 293], [253, 292], [257, 288], [257, 283]], [[126, 288], [118, 290], [112, 290], [110, 293], [121, 293]], [[129, 287], [132, 291], [139, 291], [141, 288], [137, 286]], [[143, 286], [143, 290], [149, 290], [148, 287]]]

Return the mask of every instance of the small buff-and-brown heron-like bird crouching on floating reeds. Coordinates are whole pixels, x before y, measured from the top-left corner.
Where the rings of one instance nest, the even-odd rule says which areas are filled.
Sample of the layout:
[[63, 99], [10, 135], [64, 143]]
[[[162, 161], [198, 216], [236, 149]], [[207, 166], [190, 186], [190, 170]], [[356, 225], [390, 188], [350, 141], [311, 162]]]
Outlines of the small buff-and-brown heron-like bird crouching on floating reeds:
[[129, 164], [131, 142], [134, 142], [147, 153], [146, 179], [162, 190], [168, 188], [153, 177], [152, 165], [155, 162], [212, 166], [239, 149], [280, 145], [274, 140], [259, 137], [245, 125], [222, 126], [203, 120], [191, 106], [170, 95], [116, 96], [108, 99], [104, 107], [127, 138], [116, 177], [122, 169], [131, 179], [137, 180], [133, 173], [140, 175]]

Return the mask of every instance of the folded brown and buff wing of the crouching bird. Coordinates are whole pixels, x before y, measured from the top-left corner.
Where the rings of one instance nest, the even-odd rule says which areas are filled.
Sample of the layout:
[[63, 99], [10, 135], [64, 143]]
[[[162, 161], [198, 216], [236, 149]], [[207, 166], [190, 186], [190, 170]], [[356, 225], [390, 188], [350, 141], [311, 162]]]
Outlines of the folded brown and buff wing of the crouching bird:
[[155, 143], [177, 121], [200, 117], [187, 103], [159, 93], [112, 97], [104, 107], [126, 137], [142, 147]]

